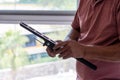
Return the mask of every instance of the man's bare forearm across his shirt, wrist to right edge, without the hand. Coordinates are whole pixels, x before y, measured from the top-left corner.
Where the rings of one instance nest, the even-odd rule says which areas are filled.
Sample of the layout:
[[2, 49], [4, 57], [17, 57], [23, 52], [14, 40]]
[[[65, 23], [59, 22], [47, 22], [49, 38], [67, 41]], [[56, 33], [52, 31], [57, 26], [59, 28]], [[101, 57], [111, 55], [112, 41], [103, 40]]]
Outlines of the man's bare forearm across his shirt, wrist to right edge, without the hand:
[[103, 61], [120, 61], [120, 43], [112, 46], [85, 46], [85, 57]]

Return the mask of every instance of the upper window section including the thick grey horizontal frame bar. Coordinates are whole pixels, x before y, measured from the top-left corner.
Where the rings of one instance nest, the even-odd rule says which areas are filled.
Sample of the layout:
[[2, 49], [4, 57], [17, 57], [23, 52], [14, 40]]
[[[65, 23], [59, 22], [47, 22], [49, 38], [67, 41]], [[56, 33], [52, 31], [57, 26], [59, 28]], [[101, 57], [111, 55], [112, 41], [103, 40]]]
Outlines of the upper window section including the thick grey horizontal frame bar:
[[1, 0], [0, 23], [70, 24], [76, 9], [77, 0]]

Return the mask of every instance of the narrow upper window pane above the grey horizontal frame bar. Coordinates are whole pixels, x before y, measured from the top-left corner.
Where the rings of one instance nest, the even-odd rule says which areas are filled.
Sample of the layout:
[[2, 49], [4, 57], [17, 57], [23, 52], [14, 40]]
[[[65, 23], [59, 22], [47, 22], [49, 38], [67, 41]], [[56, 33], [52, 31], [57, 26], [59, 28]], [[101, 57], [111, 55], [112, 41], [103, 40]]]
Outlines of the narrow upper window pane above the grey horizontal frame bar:
[[1, 0], [2, 10], [76, 10], [77, 0]]

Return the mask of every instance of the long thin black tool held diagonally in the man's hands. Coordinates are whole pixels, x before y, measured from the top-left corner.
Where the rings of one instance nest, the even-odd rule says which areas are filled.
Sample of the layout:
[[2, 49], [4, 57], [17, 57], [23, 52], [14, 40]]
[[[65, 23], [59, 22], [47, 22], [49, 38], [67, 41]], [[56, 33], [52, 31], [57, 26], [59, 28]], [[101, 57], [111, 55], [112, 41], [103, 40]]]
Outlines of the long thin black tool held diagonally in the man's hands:
[[[23, 22], [21, 22], [20, 25], [23, 28], [25, 28], [28, 31], [35, 34], [36, 36], [42, 38], [45, 41], [45, 43], [44, 43], [45, 46], [48, 46], [51, 49], [55, 46], [55, 42], [53, 40], [49, 39], [47, 36], [43, 35], [42, 33], [38, 32], [37, 30], [33, 29], [32, 27], [28, 26], [27, 24], [25, 24]], [[83, 64], [85, 64], [86, 66], [88, 66], [89, 68], [93, 69], [93, 70], [97, 69], [97, 67], [94, 64], [90, 63], [89, 61], [87, 61], [87, 60], [85, 60], [83, 58], [76, 58], [76, 59], [78, 61], [82, 62]]]

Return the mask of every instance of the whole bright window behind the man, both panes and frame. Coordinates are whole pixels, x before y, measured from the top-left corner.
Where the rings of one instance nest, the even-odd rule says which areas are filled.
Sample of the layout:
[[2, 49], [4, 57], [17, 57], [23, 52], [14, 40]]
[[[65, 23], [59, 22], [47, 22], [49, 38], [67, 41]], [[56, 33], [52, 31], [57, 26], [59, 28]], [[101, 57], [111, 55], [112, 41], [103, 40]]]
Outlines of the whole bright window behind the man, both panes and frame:
[[35, 38], [42, 40], [19, 23], [23, 21], [53, 40], [63, 40], [71, 28], [78, 1], [0, 1], [0, 53], [4, 53], [0, 54], [1, 80], [75, 80], [75, 59], [49, 57], [46, 47]]

